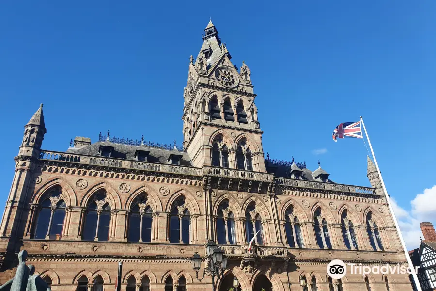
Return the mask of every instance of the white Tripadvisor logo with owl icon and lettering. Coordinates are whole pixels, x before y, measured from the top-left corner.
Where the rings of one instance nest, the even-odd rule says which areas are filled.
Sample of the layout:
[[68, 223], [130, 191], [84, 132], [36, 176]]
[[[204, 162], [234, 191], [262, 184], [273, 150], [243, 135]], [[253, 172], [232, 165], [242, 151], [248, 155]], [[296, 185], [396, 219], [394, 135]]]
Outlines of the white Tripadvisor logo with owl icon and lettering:
[[[327, 265], [327, 273], [332, 279], [342, 279], [347, 274], [347, 265], [350, 274], [368, 275], [372, 274], [412, 274], [413, 267], [406, 267], [400, 264], [386, 264], [381, 266], [364, 266], [360, 264], [345, 264], [340, 259], [334, 259]], [[418, 268], [415, 267], [415, 273], [418, 273]]]

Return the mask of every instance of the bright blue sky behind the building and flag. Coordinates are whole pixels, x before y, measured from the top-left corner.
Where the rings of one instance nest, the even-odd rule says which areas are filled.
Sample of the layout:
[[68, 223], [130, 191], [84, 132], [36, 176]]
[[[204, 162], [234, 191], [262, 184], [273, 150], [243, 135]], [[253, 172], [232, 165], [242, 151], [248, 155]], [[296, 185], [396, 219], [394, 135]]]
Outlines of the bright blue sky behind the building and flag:
[[212, 17], [234, 65], [251, 69], [265, 152], [311, 169], [319, 159], [334, 181], [369, 186], [362, 141], [331, 139], [336, 125], [362, 115], [415, 247], [420, 220], [436, 222], [435, 138], [426, 129], [435, 124], [436, 2], [221, 4], [1, 1], [3, 201], [23, 126], [41, 102], [45, 149], [108, 129], [181, 141], [189, 56]]

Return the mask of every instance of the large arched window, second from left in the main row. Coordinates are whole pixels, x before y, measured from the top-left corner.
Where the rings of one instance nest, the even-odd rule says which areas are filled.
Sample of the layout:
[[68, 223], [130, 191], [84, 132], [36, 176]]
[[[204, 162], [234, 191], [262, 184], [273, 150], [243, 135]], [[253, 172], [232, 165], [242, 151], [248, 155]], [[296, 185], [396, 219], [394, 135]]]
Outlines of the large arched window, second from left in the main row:
[[105, 192], [94, 194], [94, 200], [89, 204], [86, 213], [83, 240], [101, 242], [109, 240], [111, 207], [107, 200], [108, 196]]

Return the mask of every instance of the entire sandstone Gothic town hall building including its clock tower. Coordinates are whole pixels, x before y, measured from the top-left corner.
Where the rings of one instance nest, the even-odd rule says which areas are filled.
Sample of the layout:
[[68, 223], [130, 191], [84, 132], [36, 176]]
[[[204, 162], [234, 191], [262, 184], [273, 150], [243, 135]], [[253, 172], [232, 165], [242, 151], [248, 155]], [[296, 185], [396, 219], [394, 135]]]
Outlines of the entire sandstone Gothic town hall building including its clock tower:
[[321, 167], [270, 159], [250, 69], [230, 60], [210, 21], [190, 58], [183, 147], [108, 132], [94, 143], [77, 137], [65, 152], [43, 150], [41, 105], [15, 157], [0, 282], [26, 249], [52, 290], [113, 290], [119, 261], [122, 290], [212, 290], [190, 261], [212, 240], [229, 259], [219, 291], [234, 276], [242, 291], [411, 290], [407, 275], [327, 275], [332, 259], [405, 264], [374, 164], [368, 158], [367, 188], [334, 183]]

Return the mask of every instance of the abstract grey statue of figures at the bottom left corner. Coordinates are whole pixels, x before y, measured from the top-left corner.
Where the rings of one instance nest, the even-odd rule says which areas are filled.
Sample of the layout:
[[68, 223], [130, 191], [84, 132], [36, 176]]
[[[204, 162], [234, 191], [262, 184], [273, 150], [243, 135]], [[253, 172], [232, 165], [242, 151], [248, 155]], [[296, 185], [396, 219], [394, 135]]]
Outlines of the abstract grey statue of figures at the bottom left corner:
[[47, 283], [35, 273], [35, 266], [26, 266], [27, 251], [18, 254], [15, 276], [0, 286], [0, 291], [51, 291]]

